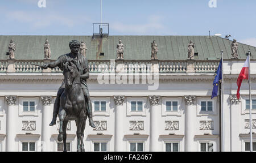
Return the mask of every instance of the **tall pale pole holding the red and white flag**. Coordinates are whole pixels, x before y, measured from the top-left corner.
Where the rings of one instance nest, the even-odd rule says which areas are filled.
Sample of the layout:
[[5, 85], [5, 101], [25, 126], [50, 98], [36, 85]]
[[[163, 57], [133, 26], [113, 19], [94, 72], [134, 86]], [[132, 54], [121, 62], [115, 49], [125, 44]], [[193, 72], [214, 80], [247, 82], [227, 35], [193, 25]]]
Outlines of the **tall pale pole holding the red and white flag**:
[[249, 74], [248, 74], [248, 83], [249, 83], [249, 101], [250, 101], [250, 151], [253, 152], [253, 133], [251, 132], [251, 72], [250, 72], [250, 55], [251, 52], [248, 50], [247, 55], [249, 55]]

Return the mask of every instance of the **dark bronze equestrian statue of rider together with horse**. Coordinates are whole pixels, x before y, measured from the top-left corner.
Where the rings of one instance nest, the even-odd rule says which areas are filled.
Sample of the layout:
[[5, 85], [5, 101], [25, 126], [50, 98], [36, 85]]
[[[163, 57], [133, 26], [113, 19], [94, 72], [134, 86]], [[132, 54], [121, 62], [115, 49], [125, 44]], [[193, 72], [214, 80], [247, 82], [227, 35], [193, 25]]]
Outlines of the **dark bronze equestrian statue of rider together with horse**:
[[95, 128], [92, 120], [92, 102], [90, 100], [86, 79], [89, 78], [88, 60], [79, 53], [80, 42], [69, 42], [71, 53], [61, 55], [55, 62], [42, 66], [42, 68], [59, 67], [63, 71], [64, 80], [57, 92], [53, 108], [53, 118], [49, 126], [56, 124], [57, 114], [60, 119], [58, 141], [64, 143], [67, 139], [65, 127], [69, 120], [75, 120], [77, 125], [77, 151], [84, 151], [82, 142], [84, 136], [86, 115], [89, 117], [89, 125]]

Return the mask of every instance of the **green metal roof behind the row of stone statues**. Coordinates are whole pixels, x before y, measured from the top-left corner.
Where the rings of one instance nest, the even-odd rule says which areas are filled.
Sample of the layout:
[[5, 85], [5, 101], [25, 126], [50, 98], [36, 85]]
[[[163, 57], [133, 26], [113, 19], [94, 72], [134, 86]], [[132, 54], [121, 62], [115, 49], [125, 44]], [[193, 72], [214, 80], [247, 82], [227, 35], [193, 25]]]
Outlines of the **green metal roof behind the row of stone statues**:
[[[224, 51], [224, 59], [232, 57], [232, 40], [217, 36], [109, 36], [108, 38], [92, 38], [92, 36], [0, 36], [0, 59], [7, 59], [8, 46], [11, 39], [16, 45], [15, 59], [44, 59], [44, 42], [48, 38], [51, 46], [51, 59], [69, 53], [69, 41], [84, 40], [88, 59], [116, 59], [116, 46], [119, 38], [125, 46], [124, 58], [132, 60], [151, 59], [151, 42], [158, 44], [158, 59], [183, 60], [187, 59], [188, 42], [195, 42], [195, 59], [221, 58], [220, 51]], [[252, 58], [256, 59], [256, 48], [239, 43], [238, 55], [246, 58], [247, 50], [251, 50]], [[100, 53], [104, 53], [101, 56]]]

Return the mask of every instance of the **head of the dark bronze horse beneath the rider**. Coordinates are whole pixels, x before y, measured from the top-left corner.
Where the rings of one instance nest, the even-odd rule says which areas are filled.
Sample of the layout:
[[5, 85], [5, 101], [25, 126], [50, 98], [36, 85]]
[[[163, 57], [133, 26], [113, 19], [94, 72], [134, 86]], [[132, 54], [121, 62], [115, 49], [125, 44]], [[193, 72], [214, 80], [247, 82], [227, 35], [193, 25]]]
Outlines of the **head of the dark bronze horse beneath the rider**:
[[65, 87], [70, 88], [77, 76], [80, 75], [79, 70], [77, 69], [76, 61], [69, 60], [64, 64], [63, 75], [65, 79]]

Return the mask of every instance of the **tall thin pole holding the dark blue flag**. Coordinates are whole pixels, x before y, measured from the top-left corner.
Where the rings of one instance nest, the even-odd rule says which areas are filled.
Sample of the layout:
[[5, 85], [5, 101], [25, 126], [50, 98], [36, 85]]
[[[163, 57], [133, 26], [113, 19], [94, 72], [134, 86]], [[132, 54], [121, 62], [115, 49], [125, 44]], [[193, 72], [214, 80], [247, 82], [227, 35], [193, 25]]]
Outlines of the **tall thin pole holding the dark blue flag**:
[[222, 152], [225, 152], [225, 144], [224, 144], [224, 71], [223, 71], [223, 50], [221, 50], [221, 146]]

